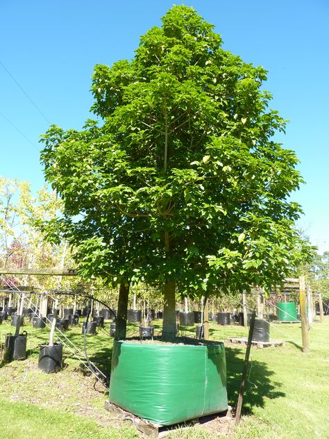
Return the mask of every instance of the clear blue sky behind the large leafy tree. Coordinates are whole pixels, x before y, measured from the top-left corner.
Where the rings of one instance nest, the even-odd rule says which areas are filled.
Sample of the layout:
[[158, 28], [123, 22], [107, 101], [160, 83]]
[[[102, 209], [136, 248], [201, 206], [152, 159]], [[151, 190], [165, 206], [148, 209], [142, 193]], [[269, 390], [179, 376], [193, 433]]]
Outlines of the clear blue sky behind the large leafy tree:
[[[306, 181], [292, 195], [305, 212], [299, 226], [319, 251], [329, 251], [328, 0], [183, 3], [215, 25], [224, 49], [269, 71], [271, 108], [290, 120], [287, 134], [276, 138], [296, 151]], [[94, 65], [132, 58], [140, 35], [160, 25], [172, 5], [0, 0], [0, 174], [40, 188], [39, 135], [49, 122], [81, 128], [91, 117]]]

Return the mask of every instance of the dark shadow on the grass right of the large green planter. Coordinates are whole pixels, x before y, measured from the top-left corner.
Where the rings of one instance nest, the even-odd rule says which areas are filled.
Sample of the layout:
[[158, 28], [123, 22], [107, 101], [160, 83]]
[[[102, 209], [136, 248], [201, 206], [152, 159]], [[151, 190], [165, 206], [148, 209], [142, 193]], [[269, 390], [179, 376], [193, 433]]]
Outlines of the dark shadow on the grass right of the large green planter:
[[[225, 351], [228, 399], [229, 404], [236, 406], [244, 367], [244, 352], [243, 358], [241, 358], [241, 349], [226, 346]], [[265, 399], [285, 397], [285, 393], [279, 390], [282, 384], [271, 379], [273, 374], [274, 372], [269, 370], [267, 363], [256, 360], [249, 362], [247, 379], [244, 386], [244, 414], [252, 414], [253, 407], [255, 406], [264, 407]]]

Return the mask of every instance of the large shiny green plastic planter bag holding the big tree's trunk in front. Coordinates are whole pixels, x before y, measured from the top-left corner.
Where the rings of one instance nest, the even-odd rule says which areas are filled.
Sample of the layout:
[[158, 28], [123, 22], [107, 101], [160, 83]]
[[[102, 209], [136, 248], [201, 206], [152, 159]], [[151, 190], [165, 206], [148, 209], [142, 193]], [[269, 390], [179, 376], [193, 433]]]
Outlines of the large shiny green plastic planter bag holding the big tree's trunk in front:
[[156, 345], [115, 340], [110, 402], [161, 425], [226, 411], [223, 343]]

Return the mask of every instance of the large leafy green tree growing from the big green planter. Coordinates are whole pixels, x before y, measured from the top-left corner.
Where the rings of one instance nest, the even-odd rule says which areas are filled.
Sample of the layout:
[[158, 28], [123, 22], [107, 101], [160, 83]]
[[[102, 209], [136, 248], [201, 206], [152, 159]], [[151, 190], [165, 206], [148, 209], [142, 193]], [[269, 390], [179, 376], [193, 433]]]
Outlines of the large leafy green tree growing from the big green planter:
[[162, 286], [164, 338], [175, 291], [271, 285], [305, 247], [289, 194], [302, 182], [293, 151], [273, 140], [267, 72], [221, 48], [193, 8], [174, 6], [133, 60], [94, 69], [83, 131], [43, 136], [46, 178], [65, 204], [56, 228], [81, 272]]

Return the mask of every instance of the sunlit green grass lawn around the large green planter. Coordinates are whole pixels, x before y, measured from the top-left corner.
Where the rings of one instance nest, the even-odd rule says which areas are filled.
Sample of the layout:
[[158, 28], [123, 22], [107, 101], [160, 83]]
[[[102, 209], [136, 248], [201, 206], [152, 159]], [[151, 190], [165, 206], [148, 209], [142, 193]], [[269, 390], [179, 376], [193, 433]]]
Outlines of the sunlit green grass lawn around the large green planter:
[[[155, 321], [160, 329], [161, 321]], [[57, 374], [37, 369], [38, 345], [47, 342], [48, 329], [28, 332], [28, 356], [0, 367], [1, 433], [3, 438], [137, 438], [131, 424], [110, 420], [104, 410], [107, 391], [85, 373], [80, 361], [67, 349], [65, 368]], [[184, 329], [183, 335], [194, 335]], [[10, 322], [0, 325], [0, 343], [14, 333]], [[109, 324], [97, 336], [87, 336], [87, 352], [101, 370], [109, 374], [112, 338]], [[130, 325], [130, 335], [137, 327]], [[66, 332], [83, 351], [81, 326]], [[211, 324], [210, 338], [246, 336], [241, 326]], [[279, 348], [252, 349], [244, 395], [242, 423], [225, 431], [195, 427], [176, 431], [171, 438], [328, 438], [329, 436], [329, 317], [315, 322], [310, 331], [310, 354], [301, 351], [300, 324], [271, 324], [271, 338], [285, 340]], [[245, 349], [226, 343], [229, 404], [235, 406]], [[233, 423], [231, 423], [233, 424]]]

